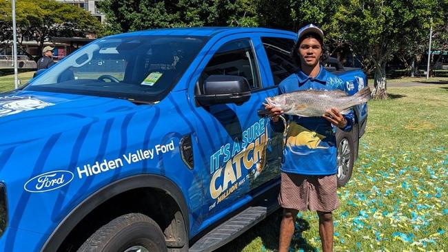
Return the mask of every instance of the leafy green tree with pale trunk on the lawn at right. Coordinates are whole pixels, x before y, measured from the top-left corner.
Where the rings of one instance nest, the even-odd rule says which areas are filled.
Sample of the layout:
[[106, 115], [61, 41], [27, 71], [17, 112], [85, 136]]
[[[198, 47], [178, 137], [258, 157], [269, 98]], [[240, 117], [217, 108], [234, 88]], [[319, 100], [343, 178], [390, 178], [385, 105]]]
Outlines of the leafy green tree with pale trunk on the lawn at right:
[[399, 45], [421, 41], [429, 19], [440, 20], [441, 12], [440, 0], [343, 1], [336, 19], [354, 49], [375, 65], [374, 97], [387, 98], [386, 64]]

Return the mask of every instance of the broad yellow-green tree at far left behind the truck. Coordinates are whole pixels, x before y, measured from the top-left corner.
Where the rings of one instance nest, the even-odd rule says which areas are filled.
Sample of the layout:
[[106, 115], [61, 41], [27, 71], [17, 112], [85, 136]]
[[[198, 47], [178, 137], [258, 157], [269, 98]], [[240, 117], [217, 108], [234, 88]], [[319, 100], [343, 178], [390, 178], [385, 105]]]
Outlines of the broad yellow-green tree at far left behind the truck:
[[[3, 40], [12, 41], [11, 1], [0, 0], [0, 28], [7, 34]], [[16, 2], [17, 37], [19, 48], [31, 59], [37, 61], [23, 48], [23, 39], [37, 41], [42, 50], [45, 41], [51, 41], [56, 36], [82, 36], [86, 34], [101, 34], [101, 23], [89, 12], [54, 0], [21, 0]], [[1, 25], [6, 23], [6, 25]], [[4, 35], [3, 35], [4, 36]]]

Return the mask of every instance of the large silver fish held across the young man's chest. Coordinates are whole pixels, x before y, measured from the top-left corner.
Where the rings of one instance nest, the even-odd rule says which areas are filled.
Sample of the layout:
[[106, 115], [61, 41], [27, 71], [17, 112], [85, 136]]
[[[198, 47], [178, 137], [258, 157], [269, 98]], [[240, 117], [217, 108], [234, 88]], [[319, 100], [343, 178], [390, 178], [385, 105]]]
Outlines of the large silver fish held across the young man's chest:
[[285, 114], [318, 117], [332, 107], [344, 114], [350, 107], [369, 101], [370, 94], [369, 87], [364, 87], [352, 96], [341, 90], [301, 90], [267, 97], [265, 100], [269, 105], [280, 107]]

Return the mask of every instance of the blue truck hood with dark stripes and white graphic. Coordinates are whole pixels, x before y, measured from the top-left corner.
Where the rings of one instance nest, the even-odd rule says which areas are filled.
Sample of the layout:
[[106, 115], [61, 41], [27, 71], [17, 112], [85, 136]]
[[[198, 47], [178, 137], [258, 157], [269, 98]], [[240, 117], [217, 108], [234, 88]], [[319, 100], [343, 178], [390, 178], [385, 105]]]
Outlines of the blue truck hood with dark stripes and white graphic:
[[0, 150], [135, 109], [116, 98], [17, 91], [0, 94]]

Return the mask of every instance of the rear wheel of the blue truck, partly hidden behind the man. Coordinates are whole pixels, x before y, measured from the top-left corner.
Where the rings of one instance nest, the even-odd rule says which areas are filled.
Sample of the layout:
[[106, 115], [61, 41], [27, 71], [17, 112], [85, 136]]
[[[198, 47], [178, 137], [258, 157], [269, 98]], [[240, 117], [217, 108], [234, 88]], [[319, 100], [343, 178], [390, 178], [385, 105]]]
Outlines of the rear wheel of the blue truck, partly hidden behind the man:
[[343, 187], [352, 178], [353, 164], [356, 150], [354, 149], [354, 131], [344, 132], [340, 129], [336, 132], [336, 147], [338, 166], [338, 187]]

